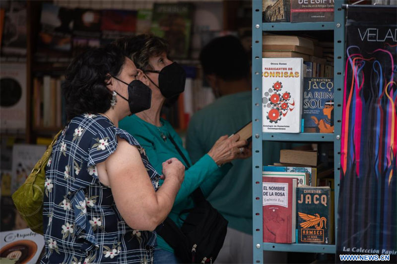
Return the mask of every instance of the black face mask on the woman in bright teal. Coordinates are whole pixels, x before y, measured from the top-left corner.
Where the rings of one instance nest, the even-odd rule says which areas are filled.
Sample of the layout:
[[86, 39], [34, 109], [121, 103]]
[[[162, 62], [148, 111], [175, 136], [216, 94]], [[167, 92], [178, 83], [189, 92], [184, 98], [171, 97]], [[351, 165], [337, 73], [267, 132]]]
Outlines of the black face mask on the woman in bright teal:
[[166, 98], [173, 98], [185, 91], [186, 72], [176, 62], [165, 66], [161, 71], [146, 70], [145, 72], [158, 73], [158, 84], [157, 86], [152, 80], [149, 80], [160, 89], [161, 94]]

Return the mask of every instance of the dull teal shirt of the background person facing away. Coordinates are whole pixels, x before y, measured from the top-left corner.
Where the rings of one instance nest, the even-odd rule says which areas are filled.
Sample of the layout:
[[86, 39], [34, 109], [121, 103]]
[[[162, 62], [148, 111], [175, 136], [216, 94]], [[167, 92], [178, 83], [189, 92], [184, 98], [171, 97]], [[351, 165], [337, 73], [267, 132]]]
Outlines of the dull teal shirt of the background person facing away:
[[[189, 122], [186, 138], [193, 162], [199, 162], [220, 136], [233, 134], [251, 120], [251, 92], [223, 96], [199, 110]], [[264, 164], [279, 162], [281, 146], [266, 142]], [[233, 167], [207, 200], [229, 221], [229, 227], [252, 234], [252, 158], [236, 159], [232, 163]]]

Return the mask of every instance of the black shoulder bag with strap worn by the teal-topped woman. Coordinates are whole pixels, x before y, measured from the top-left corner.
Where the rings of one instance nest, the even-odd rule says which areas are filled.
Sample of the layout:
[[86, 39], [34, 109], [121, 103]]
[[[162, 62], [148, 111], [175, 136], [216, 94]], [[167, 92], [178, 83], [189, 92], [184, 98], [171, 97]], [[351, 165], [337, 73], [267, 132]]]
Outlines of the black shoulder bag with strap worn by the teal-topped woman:
[[[174, 139], [170, 140], [189, 165]], [[182, 263], [213, 263], [225, 241], [228, 221], [205, 200], [200, 187], [192, 198], [195, 207], [181, 212], [189, 213], [181, 228], [167, 217], [156, 231]]]

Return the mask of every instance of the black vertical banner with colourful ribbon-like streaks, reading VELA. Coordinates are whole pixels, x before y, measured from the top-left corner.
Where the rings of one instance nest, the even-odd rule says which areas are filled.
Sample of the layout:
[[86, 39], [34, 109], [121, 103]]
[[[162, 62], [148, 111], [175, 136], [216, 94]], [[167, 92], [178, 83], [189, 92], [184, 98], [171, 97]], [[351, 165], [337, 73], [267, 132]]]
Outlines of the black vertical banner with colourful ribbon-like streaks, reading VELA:
[[397, 254], [396, 14], [347, 8], [338, 254]]

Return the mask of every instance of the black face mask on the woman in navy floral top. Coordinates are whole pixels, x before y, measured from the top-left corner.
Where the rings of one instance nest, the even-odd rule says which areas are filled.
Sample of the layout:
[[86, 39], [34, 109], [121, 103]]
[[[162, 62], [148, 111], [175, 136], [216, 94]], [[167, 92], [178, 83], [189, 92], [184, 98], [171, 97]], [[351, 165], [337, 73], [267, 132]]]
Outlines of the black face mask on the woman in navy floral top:
[[115, 79], [128, 85], [128, 99], [117, 93], [121, 98], [128, 102], [131, 114], [141, 112], [150, 108], [152, 100], [152, 90], [139, 80], [133, 80], [130, 84], [113, 76]]

